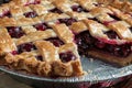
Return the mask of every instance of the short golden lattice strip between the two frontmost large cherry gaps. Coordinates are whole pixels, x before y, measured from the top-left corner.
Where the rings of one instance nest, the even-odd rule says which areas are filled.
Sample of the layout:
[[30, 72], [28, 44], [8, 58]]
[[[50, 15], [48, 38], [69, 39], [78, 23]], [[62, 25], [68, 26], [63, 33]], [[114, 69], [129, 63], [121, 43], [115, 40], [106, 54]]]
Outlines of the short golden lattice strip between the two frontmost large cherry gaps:
[[47, 41], [37, 41], [35, 42], [35, 46], [38, 52], [43, 56], [43, 61], [45, 62], [54, 62], [58, 61], [58, 48], [55, 47], [51, 42]]

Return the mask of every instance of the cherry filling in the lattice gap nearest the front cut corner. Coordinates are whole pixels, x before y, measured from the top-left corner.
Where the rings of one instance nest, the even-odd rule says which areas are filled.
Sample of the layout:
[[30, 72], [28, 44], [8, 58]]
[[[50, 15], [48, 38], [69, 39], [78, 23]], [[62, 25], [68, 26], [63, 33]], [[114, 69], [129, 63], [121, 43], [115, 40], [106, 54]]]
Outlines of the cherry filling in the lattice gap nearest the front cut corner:
[[66, 52], [66, 53], [61, 53], [59, 54], [61, 61], [63, 63], [68, 63], [70, 61], [75, 61], [77, 57], [74, 55], [73, 52]]

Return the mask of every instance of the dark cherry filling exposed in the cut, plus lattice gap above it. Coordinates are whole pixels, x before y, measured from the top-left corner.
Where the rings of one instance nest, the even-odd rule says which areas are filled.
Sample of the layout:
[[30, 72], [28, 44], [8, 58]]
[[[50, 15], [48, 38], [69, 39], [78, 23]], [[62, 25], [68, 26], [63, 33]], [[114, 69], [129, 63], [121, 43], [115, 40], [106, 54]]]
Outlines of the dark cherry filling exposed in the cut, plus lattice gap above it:
[[[110, 38], [119, 38], [119, 36], [114, 32], [108, 32], [106, 33]], [[75, 41], [78, 45], [79, 53], [81, 55], [87, 55], [86, 51], [91, 48], [97, 48], [103, 52], [108, 52], [114, 56], [119, 57], [127, 57], [132, 53], [132, 44], [125, 43], [125, 44], [111, 44], [109, 42], [103, 42], [100, 40], [97, 40], [90, 35], [88, 31], [81, 32], [75, 36]]]

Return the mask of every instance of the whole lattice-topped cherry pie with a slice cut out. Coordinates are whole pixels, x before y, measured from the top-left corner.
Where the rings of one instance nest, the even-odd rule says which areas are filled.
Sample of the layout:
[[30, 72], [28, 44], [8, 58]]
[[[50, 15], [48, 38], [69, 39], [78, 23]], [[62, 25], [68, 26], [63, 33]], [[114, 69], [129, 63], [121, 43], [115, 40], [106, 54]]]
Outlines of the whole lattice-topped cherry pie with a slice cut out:
[[81, 76], [80, 56], [132, 63], [132, 3], [12, 0], [0, 7], [1, 65], [40, 76]]

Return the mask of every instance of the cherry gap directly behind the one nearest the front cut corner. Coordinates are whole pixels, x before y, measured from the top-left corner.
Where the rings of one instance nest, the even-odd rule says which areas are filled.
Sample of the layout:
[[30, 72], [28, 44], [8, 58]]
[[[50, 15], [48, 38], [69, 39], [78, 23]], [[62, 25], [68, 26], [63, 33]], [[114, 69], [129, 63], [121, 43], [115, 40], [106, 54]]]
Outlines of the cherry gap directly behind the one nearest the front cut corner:
[[59, 46], [64, 45], [64, 42], [61, 41], [58, 37], [51, 37], [51, 38], [47, 38], [46, 41], [50, 41], [50, 42], [53, 43], [56, 47], [59, 47]]

